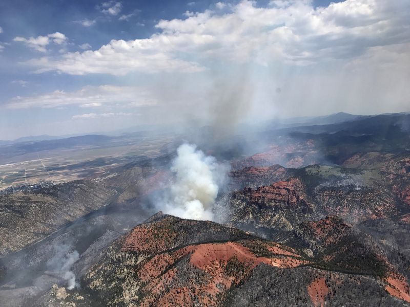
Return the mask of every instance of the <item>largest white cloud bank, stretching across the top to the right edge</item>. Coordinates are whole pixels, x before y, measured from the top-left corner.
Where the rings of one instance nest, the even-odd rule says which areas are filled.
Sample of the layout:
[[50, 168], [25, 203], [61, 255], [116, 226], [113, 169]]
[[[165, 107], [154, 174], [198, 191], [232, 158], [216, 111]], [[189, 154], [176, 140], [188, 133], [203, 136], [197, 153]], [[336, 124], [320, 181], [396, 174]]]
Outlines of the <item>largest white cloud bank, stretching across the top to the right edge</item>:
[[[227, 8], [223, 13], [222, 7]], [[111, 40], [95, 51], [28, 63], [38, 67], [37, 72], [75, 75], [197, 72], [213, 60], [309, 65], [355, 58], [369, 48], [410, 39], [410, 2], [404, 0], [394, 6], [384, 0], [346, 0], [318, 8], [310, 0], [277, 0], [267, 7], [242, 0], [216, 8], [187, 12], [185, 19], [160, 20], [155, 26], [158, 33], [150, 38]]]

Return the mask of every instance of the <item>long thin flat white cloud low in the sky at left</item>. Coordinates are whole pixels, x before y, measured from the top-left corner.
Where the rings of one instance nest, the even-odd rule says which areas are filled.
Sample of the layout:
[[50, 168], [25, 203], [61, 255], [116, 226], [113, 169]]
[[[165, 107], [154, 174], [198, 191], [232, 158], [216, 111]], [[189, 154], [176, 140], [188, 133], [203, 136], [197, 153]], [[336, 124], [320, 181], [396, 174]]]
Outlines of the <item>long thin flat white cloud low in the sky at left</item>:
[[129, 107], [154, 105], [156, 101], [151, 98], [150, 93], [142, 87], [136, 86], [84, 86], [78, 91], [65, 92], [54, 91], [47, 94], [20, 97], [11, 99], [6, 107], [30, 108], [30, 107], [61, 107], [67, 105], [78, 105], [80, 107], [96, 106], [119, 106]]

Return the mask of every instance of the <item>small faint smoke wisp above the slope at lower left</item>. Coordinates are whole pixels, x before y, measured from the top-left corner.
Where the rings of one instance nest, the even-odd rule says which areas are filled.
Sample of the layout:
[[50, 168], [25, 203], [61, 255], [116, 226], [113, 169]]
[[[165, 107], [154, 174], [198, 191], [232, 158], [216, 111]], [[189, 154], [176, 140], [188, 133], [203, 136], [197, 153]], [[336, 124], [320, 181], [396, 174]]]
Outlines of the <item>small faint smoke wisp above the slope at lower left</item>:
[[47, 261], [47, 267], [67, 280], [67, 289], [72, 290], [78, 286], [78, 283], [75, 281], [75, 274], [71, 271], [71, 267], [79, 259], [79, 254], [76, 250], [70, 252], [68, 245], [58, 245], [54, 249], [55, 255]]

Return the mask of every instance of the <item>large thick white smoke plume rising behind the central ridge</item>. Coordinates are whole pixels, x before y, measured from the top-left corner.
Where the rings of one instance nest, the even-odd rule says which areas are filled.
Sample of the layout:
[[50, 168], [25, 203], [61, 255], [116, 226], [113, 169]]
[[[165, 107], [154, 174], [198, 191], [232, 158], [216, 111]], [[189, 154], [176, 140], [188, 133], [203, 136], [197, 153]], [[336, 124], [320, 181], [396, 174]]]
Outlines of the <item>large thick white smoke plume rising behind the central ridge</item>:
[[194, 220], [213, 220], [212, 206], [226, 167], [206, 156], [195, 145], [183, 144], [172, 163], [175, 183], [171, 187], [166, 213]]

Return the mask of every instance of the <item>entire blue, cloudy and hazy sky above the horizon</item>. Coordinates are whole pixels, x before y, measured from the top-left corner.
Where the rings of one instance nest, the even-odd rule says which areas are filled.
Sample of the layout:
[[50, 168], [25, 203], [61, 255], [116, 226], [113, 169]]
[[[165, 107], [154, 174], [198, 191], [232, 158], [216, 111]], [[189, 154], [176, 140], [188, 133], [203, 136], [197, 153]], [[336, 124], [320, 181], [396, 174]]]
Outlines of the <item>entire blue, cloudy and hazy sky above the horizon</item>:
[[0, 2], [0, 139], [410, 111], [410, 1]]

